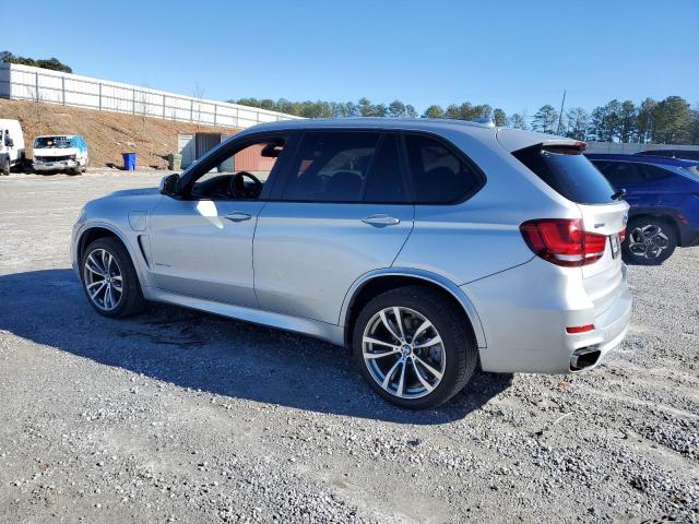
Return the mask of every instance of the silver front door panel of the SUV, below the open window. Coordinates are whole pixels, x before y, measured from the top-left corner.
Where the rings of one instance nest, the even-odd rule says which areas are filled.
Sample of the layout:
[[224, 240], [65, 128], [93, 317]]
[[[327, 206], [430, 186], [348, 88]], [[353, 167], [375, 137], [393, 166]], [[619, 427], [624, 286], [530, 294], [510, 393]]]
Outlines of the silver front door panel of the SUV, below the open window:
[[252, 238], [261, 201], [163, 199], [149, 219], [156, 287], [257, 307]]

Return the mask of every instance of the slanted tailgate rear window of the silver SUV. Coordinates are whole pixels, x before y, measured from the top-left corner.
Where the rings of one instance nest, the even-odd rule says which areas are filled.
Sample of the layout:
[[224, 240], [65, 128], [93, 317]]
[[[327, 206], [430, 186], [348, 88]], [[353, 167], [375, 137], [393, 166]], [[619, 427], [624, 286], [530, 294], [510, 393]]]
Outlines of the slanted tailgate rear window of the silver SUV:
[[537, 144], [512, 153], [561, 196], [578, 204], [608, 204], [615, 193], [609, 182], [580, 153], [554, 152]]

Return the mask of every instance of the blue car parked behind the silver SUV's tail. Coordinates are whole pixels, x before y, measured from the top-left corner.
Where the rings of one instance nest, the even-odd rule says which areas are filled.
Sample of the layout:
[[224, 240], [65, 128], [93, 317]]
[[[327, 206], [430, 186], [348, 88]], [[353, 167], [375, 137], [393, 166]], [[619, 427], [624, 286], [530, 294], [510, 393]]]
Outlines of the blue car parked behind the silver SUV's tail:
[[643, 155], [589, 154], [629, 210], [621, 246], [631, 264], [661, 264], [676, 247], [699, 245], [699, 162]]

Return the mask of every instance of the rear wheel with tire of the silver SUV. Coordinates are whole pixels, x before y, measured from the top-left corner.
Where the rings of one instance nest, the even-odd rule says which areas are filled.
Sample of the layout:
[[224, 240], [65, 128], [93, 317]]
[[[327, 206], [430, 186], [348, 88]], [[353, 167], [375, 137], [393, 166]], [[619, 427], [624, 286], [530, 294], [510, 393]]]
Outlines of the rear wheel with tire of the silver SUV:
[[[405, 341], [400, 344], [396, 308]], [[425, 321], [430, 326], [420, 332]], [[414, 340], [413, 334], [417, 335]], [[365, 335], [389, 344], [365, 344]], [[437, 337], [441, 343], [427, 344]], [[451, 301], [423, 286], [401, 287], [371, 299], [353, 326], [352, 347], [359, 372], [369, 385], [388, 402], [410, 409], [447, 402], [466, 385], [478, 361], [471, 325]], [[365, 358], [367, 355], [381, 356]]]

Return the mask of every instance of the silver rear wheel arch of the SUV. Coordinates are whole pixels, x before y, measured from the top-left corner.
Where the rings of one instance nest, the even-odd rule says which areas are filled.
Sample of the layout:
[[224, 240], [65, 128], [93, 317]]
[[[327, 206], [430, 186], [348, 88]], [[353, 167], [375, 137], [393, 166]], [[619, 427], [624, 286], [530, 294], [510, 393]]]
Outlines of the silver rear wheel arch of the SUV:
[[447, 278], [427, 271], [396, 267], [366, 273], [354, 282], [345, 295], [340, 312], [340, 325], [344, 330], [345, 345], [351, 344], [353, 321], [365, 303], [383, 291], [415, 284], [431, 287], [453, 300], [470, 322], [477, 346], [486, 347], [481, 319], [463, 289]]

